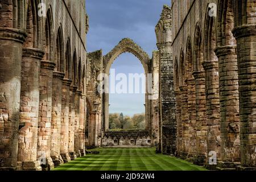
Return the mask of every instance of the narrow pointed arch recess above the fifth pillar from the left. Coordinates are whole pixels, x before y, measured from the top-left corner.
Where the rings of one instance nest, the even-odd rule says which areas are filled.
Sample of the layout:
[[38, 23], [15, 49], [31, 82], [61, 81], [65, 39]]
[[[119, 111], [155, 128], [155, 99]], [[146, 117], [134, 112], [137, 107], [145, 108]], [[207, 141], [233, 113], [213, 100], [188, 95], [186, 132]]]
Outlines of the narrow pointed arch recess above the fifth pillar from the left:
[[72, 80], [71, 46], [69, 39], [65, 51], [65, 78]]

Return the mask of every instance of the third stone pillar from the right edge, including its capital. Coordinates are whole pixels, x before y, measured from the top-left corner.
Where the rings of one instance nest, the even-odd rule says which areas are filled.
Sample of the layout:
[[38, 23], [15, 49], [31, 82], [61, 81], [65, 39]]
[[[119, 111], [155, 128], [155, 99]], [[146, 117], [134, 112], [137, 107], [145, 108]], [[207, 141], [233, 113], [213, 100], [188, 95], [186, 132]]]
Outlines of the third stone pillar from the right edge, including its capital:
[[[207, 152], [217, 153], [217, 159], [220, 159], [220, 95], [218, 82], [218, 62], [214, 60], [204, 61], [205, 70], [205, 97], [206, 97], [206, 117], [208, 126]], [[208, 166], [210, 168], [216, 165]]]

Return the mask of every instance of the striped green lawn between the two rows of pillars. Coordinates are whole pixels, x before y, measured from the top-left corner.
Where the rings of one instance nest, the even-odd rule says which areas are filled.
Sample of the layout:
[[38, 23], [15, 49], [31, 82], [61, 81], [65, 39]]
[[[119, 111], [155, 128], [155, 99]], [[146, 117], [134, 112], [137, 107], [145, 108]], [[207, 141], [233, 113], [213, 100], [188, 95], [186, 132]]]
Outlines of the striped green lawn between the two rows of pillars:
[[155, 148], [98, 148], [55, 168], [55, 171], [204, 171], [205, 168], [171, 156], [155, 154]]

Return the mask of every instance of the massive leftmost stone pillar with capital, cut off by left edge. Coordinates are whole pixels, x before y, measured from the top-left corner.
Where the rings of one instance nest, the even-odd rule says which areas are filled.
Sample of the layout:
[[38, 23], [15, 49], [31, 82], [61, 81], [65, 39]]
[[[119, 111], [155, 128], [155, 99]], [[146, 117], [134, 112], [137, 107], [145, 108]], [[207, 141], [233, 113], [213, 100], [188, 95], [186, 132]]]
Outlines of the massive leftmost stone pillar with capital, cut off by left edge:
[[[25, 38], [22, 30], [0, 27], [0, 170], [18, 169], [20, 79]], [[34, 121], [34, 127], [37, 122]], [[34, 132], [37, 135], [37, 131]], [[36, 162], [36, 157], [33, 160]]]

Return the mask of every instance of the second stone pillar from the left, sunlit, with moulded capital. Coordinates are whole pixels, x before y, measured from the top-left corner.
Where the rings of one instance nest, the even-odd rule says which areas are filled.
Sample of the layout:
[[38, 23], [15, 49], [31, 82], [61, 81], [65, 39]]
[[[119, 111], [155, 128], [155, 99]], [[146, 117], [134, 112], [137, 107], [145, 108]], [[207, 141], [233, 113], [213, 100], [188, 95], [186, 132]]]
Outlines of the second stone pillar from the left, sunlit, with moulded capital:
[[[40, 138], [38, 127], [40, 97], [40, 62], [44, 51], [35, 48], [23, 48], [22, 79], [20, 89], [20, 120], [18, 160], [24, 170], [41, 170], [36, 160], [44, 159], [44, 155], [36, 156], [37, 140]], [[38, 137], [39, 136], [39, 137]]]

